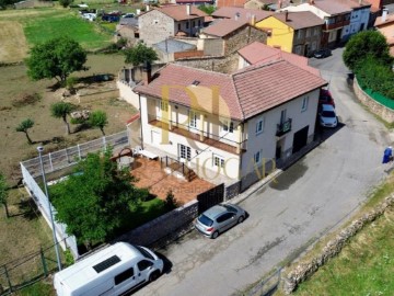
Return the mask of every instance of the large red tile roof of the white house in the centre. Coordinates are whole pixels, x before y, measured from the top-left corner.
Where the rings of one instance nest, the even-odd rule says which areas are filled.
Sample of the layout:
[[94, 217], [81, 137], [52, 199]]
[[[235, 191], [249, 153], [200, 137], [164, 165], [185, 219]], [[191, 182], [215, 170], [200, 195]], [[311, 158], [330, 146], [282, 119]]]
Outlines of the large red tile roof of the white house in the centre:
[[242, 121], [326, 84], [286, 60], [251, 66], [233, 75], [169, 64], [153, 81], [135, 91], [163, 99], [170, 89], [171, 102]]

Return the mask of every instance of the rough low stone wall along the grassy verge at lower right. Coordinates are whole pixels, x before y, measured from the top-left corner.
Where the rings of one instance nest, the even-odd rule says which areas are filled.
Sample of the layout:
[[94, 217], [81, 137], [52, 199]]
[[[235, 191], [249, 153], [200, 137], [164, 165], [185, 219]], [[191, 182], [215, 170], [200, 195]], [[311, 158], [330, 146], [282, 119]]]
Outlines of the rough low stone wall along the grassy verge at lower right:
[[291, 294], [296, 291], [297, 286], [315, 273], [321, 266], [323, 266], [329, 259], [338, 255], [347, 241], [360, 231], [366, 225], [375, 220], [378, 217], [384, 214], [384, 212], [394, 205], [394, 194], [386, 197], [374, 209], [364, 214], [361, 218], [354, 220], [349, 226], [344, 228], [334, 239], [329, 240], [323, 248], [322, 252], [310, 259], [306, 262], [302, 262], [290, 271], [282, 278], [282, 289], [285, 294]]

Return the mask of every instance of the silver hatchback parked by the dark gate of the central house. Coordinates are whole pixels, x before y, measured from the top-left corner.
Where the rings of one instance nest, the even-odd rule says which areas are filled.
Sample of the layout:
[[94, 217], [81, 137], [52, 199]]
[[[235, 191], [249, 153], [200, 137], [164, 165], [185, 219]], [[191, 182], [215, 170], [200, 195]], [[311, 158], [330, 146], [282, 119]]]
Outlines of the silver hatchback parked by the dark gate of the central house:
[[195, 223], [202, 235], [216, 239], [220, 234], [243, 223], [246, 212], [236, 205], [220, 204], [204, 212]]

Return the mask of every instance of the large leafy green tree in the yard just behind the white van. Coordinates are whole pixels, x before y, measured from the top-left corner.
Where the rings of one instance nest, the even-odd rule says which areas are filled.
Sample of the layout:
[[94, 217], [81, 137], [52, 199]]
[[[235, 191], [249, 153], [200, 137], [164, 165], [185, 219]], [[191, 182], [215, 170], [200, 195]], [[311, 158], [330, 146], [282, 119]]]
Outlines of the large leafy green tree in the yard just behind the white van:
[[[67, 224], [67, 232], [88, 248], [115, 236], [131, 219], [132, 205], [144, 197], [128, 171], [117, 170], [112, 150], [89, 153], [66, 181], [50, 187], [56, 219]], [[78, 172], [78, 173], [77, 173]]]

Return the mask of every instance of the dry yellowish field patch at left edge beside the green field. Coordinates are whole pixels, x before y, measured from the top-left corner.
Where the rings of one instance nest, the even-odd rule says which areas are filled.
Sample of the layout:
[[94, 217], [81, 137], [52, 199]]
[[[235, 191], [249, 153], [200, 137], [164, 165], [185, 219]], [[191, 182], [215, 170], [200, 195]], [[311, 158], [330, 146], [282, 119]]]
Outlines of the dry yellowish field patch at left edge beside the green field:
[[15, 62], [26, 57], [26, 38], [19, 22], [0, 21], [0, 62]]

